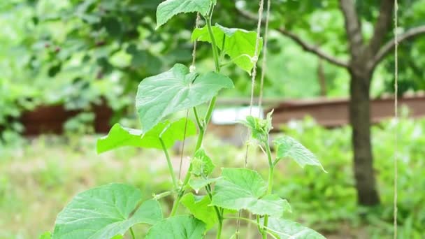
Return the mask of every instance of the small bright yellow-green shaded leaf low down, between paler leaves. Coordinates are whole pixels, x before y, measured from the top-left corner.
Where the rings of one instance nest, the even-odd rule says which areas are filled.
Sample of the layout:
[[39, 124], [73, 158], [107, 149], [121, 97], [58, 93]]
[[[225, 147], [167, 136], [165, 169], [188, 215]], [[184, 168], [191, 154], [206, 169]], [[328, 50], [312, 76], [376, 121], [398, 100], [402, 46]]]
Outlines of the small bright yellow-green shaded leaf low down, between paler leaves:
[[217, 215], [214, 208], [208, 206], [211, 203], [208, 196], [195, 196], [192, 193], [185, 194], [180, 201], [185, 207], [202, 222], [206, 223], [206, 230], [209, 230], [217, 223]]

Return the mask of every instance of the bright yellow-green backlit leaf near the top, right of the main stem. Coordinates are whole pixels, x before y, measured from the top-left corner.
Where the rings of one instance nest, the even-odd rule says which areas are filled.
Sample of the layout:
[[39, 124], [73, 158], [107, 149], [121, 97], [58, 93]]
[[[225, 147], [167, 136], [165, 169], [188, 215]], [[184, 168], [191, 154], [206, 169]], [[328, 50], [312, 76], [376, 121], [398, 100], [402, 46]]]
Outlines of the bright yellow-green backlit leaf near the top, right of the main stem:
[[[222, 27], [215, 24], [212, 27], [212, 34], [215, 37], [217, 47], [229, 55], [231, 61], [244, 71], [251, 73], [252, 57], [255, 55], [255, 45], [257, 42], [257, 32], [246, 31], [244, 29]], [[224, 40], [225, 38], [225, 40]], [[192, 41], [206, 41], [211, 43], [208, 28], [196, 28], [192, 33]], [[259, 51], [263, 47], [263, 39], [260, 39]]]

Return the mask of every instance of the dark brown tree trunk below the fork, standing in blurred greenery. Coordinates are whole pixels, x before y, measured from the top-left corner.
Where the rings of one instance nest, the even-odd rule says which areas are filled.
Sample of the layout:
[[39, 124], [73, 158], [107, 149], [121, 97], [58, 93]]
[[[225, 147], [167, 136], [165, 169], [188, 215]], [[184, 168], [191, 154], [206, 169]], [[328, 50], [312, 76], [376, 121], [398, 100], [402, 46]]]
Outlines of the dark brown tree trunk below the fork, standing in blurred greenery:
[[370, 78], [367, 71], [350, 71], [350, 124], [354, 152], [354, 178], [360, 205], [377, 205], [380, 198], [376, 190], [370, 143]]

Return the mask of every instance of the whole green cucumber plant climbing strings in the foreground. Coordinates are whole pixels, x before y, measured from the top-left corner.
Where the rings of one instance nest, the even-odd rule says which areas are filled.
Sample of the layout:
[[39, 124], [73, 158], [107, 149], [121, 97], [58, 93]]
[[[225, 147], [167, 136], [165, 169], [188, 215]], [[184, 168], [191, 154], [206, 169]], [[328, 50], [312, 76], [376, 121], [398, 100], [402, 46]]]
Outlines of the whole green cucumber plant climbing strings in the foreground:
[[[127, 184], [89, 189], [66, 205], [57, 216], [54, 231], [45, 233], [42, 238], [123, 238], [125, 233], [136, 238], [133, 230], [136, 224], [150, 225], [145, 238], [196, 239], [211, 235], [210, 230], [215, 231], [216, 238], [221, 238], [224, 220], [255, 224], [262, 238], [324, 238], [312, 229], [283, 218], [291, 207], [287, 200], [273, 194], [276, 164], [291, 158], [300, 166], [323, 167], [309, 150], [289, 136], [273, 141], [277, 151], [273, 158], [269, 140], [271, 113], [266, 119], [249, 116], [241, 122], [266, 154], [268, 180], [248, 168], [222, 168], [220, 177], [211, 177], [215, 165], [203, 149], [203, 138], [217, 94], [221, 89], [233, 88], [232, 80], [220, 73], [222, 61], [228, 59], [228, 63], [250, 73], [256, 62], [252, 58], [256, 57], [257, 41], [254, 31], [212, 25], [216, 4], [217, 0], [166, 0], [159, 4], [157, 27], [180, 13], [196, 12], [203, 16], [206, 25], [194, 29], [192, 41], [210, 43], [215, 71], [196, 72], [194, 67], [175, 64], [169, 71], [143, 79], [136, 95], [141, 129], [115, 124], [96, 146], [98, 153], [124, 146], [163, 150], [173, 188], [147, 201], [141, 201], [142, 191]], [[204, 103], [208, 103], [208, 110], [201, 117], [197, 107]], [[195, 122], [187, 118], [167, 119], [180, 110], [192, 110]], [[189, 170], [180, 181], [175, 177], [168, 150], [177, 140], [190, 136], [197, 136], [196, 147]], [[174, 201], [171, 212], [164, 217], [159, 200], [167, 196], [172, 196]], [[180, 205], [187, 209], [187, 214], [178, 214]], [[237, 216], [240, 210], [252, 213], [257, 219]], [[234, 236], [237, 238], [237, 233]]]

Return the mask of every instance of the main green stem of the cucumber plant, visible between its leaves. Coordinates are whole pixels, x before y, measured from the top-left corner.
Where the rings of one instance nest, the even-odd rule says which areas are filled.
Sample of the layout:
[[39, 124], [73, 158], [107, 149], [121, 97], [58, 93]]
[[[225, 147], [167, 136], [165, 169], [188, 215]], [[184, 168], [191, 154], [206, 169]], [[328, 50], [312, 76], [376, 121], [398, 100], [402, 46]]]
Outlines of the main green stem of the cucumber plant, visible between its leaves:
[[[219, 72], [220, 71], [219, 55], [217, 52], [217, 44], [215, 41], [214, 34], [212, 32], [212, 26], [211, 26], [211, 16], [212, 16], [213, 10], [214, 10], [214, 6], [211, 5], [210, 10], [208, 11], [208, 15], [206, 16], [206, 24], [208, 28], [208, 33], [210, 34], [210, 38], [211, 38], [212, 57], [214, 57], [215, 71]], [[212, 97], [210, 101], [210, 105], [208, 106], [206, 117], [203, 120], [204, 125], [203, 127], [199, 129], [198, 140], [196, 140], [195, 152], [199, 150], [199, 148], [201, 148], [202, 146], [203, 136], [205, 135], [206, 128], [208, 126], [208, 123], [210, 122], [210, 119], [212, 116], [212, 110], [214, 110], [215, 108], [216, 101], [217, 101], [217, 96]], [[171, 215], [170, 215], [171, 217], [173, 217], [175, 215], [175, 212], [177, 212], [178, 205], [180, 204], [180, 200], [182, 199], [182, 196], [185, 194], [186, 186], [187, 186], [187, 183], [189, 183], [191, 176], [192, 176], [192, 173], [189, 169], [189, 171], [187, 171], [186, 173], [185, 180], [183, 181], [183, 184], [182, 184], [182, 187], [180, 188], [178, 196], [177, 198], [175, 198], [175, 201], [173, 203], [173, 208], [171, 209]]]

